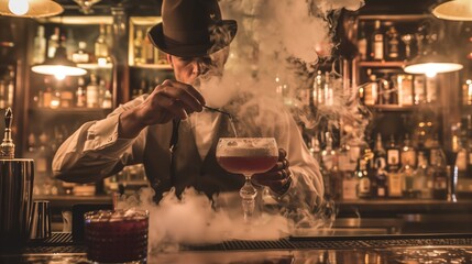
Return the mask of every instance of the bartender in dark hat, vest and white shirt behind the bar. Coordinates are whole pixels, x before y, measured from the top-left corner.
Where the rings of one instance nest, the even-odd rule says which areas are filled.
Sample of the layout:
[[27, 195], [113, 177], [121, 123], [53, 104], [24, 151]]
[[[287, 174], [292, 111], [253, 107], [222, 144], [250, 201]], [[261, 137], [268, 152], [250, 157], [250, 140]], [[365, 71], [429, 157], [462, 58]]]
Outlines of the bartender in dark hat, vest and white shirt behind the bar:
[[[173, 187], [177, 195], [194, 187], [212, 197], [239, 190], [244, 184], [244, 177], [224, 172], [216, 161], [218, 139], [234, 136], [228, 114], [204, 108], [206, 100], [194, 85], [202, 75], [223, 73], [237, 22], [221, 19], [217, 0], [164, 0], [162, 19], [149, 37], [167, 54], [175, 79], [164, 80], [150, 95], [118, 107], [106, 119], [83, 124], [54, 156], [58, 179], [94, 183], [142, 163], [156, 193], [155, 201]], [[216, 37], [216, 32], [226, 37]], [[239, 128], [255, 124], [256, 114], [238, 114], [248, 98], [237, 95], [221, 108], [237, 117]], [[323, 195], [319, 166], [292, 116], [276, 112], [271, 129], [241, 132], [243, 136], [275, 138], [281, 147], [277, 164], [252, 180], [268, 187], [281, 204], [314, 207]]]

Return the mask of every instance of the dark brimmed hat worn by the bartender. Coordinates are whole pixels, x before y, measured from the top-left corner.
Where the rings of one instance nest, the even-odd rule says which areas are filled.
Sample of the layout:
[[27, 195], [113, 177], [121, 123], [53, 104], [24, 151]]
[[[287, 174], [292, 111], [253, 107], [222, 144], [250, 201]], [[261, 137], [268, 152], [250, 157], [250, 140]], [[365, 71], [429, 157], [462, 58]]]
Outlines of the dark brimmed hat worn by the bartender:
[[217, 0], [164, 0], [162, 22], [147, 36], [164, 53], [200, 57], [228, 46], [237, 31], [234, 20], [221, 19]]

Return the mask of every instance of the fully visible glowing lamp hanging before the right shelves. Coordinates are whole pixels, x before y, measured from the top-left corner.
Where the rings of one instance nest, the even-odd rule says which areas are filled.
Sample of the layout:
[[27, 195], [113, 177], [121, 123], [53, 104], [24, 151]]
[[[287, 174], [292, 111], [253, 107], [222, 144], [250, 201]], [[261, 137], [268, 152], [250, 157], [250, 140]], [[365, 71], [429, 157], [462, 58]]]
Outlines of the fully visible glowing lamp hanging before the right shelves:
[[432, 53], [428, 55], [418, 55], [404, 66], [405, 73], [425, 74], [435, 76], [436, 74], [451, 73], [463, 68], [462, 64], [451, 61], [450, 58]]

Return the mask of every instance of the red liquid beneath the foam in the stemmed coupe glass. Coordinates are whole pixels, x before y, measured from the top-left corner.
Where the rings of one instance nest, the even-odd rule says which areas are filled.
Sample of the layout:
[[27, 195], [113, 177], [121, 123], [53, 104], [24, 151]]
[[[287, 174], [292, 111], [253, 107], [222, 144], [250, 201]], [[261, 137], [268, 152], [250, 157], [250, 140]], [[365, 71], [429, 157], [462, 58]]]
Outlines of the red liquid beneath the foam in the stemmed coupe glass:
[[234, 174], [257, 174], [271, 169], [277, 156], [219, 156], [218, 164]]

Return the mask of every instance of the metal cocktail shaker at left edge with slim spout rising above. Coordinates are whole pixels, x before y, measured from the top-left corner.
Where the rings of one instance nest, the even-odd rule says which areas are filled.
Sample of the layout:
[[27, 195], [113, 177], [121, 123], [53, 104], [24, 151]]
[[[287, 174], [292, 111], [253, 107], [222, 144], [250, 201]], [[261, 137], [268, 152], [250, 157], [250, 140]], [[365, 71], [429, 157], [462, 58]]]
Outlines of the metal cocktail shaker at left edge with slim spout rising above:
[[34, 161], [14, 158], [11, 140], [12, 112], [6, 112], [4, 139], [0, 145], [0, 249], [26, 242], [32, 210]]

